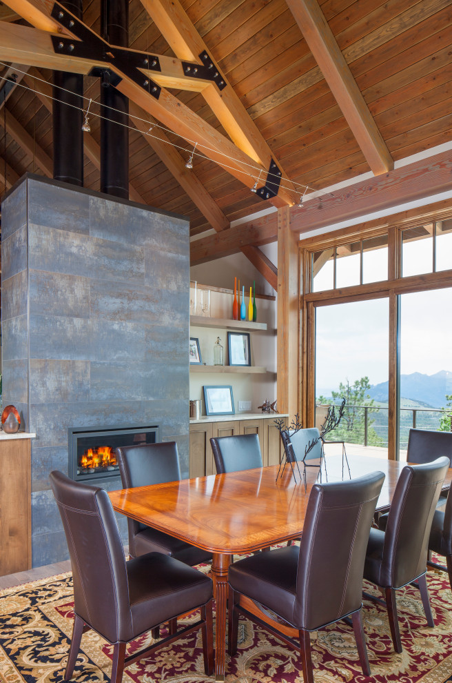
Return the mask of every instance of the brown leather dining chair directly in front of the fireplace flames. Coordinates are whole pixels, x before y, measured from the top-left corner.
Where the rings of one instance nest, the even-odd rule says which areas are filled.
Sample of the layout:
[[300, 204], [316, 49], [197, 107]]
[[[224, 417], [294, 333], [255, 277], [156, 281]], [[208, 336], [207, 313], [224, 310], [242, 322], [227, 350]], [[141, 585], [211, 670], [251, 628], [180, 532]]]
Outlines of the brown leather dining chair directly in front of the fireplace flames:
[[[116, 458], [124, 488], [149, 486], [181, 479], [176, 442], [121, 446], [116, 448]], [[193, 566], [209, 562], [212, 555], [185, 541], [173, 538], [145, 524], [127, 517], [130, 557], [145, 553], [163, 553]]]

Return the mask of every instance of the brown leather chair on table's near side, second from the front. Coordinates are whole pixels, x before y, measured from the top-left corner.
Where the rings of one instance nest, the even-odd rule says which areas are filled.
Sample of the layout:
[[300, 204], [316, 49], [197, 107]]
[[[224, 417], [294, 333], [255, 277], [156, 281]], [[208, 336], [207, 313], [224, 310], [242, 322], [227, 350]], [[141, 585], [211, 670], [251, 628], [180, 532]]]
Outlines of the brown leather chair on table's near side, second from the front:
[[420, 465], [407, 465], [396, 484], [389, 515], [382, 528], [371, 528], [364, 563], [364, 579], [384, 588], [386, 601], [364, 595], [387, 608], [391, 638], [396, 652], [402, 652], [396, 591], [418, 584], [427, 624], [435, 626], [427, 590], [427, 550], [435, 506], [449, 468], [447, 457]]

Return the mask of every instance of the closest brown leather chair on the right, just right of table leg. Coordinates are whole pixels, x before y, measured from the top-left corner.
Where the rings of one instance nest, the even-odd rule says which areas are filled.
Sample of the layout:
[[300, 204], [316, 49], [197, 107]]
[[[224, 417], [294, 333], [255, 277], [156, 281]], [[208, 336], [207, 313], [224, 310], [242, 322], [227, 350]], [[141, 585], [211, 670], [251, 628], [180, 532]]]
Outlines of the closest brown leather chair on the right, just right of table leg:
[[384, 474], [375, 472], [314, 484], [300, 548], [278, 548], [229, 566], [230, 655], [237, 651], [242, 613], [300, 649], [305, 683], [314, 683], [309, 634], [351, 617], [362, 673], [370, 675], [361, 616], [362, 569], [383, 480]]

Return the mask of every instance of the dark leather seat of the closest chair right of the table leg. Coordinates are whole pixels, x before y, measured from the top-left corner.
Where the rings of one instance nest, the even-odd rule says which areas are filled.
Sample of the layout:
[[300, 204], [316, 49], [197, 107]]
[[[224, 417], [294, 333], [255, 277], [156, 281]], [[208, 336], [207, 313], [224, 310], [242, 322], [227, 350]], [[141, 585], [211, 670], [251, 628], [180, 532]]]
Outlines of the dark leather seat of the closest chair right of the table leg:
[[[238, 560], [229, 566], [229, 585], [276, 612], [295, 628], [294, 603], [300, 549], [277, 548]], [[263, 600], [265, 595], [265, 600]]]

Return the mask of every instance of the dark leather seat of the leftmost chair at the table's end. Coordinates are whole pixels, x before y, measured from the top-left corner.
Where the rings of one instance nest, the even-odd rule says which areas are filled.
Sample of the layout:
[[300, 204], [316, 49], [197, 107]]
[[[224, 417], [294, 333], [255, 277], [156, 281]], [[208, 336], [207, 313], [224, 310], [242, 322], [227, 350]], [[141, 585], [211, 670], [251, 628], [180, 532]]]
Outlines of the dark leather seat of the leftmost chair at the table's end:
[[[212, 579], [159, 552], [127, 562], [133, 635], [196, 609], [212, 597]], [[133, 635], [125, 635], [130, 640]]]

